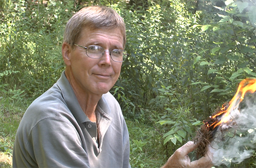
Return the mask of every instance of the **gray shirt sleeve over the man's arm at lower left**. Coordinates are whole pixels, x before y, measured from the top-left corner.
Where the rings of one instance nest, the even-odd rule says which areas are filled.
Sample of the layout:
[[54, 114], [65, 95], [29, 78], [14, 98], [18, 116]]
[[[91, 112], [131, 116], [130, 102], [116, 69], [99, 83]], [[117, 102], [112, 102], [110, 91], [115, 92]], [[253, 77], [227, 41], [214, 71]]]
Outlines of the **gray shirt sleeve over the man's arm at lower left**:
[[[61, 118], [39, 121], [26, 138], [19, 132], [14, 167], [89, 167], [88, 155], [75, 127]], [[21, 135], [23, 134], [23, 135]], [[24, 138], [25, 137], [25, 138]]]

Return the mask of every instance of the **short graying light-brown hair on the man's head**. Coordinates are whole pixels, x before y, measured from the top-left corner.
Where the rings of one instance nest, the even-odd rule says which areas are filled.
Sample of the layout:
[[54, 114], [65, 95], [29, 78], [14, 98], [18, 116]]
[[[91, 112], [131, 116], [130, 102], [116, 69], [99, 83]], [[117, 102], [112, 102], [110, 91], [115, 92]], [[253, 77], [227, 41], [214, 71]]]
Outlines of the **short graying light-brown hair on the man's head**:
[[80, 40], [81, 30], [84, 28], [92, 30], [119, 28], [121, 34], [123, 34], [123, 47], [125, 47], [126, 33], [124, 20], [111, 8], [91, 6], [82, 8], [76, 12], [66, 24], [63, 42], [67, 42], [73, 46], [74, 43]]

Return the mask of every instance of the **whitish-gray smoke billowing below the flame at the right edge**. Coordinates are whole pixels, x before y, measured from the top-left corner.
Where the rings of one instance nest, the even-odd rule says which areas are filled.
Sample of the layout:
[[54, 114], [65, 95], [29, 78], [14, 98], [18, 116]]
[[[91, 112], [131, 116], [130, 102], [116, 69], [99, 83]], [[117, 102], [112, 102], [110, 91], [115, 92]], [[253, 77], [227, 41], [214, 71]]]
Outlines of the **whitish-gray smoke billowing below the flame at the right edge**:
[[233, 109], [229, 115], [230, 122], [218, 128], [210, 148], [214, 165], [239, 164], [252, 156], [256, 148], [255, 97], [243, 101], [239, 106], [240, 110]]

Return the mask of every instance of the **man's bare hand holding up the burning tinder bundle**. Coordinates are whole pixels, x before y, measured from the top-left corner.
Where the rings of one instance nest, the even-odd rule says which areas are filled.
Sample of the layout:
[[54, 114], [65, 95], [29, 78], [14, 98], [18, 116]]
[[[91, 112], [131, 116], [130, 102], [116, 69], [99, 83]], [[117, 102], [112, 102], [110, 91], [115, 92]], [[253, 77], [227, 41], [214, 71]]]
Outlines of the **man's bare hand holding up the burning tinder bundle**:
[[199, 160], [190, 161], [188, 153], [194, 151], [196, 145], [193, 141], [178, 148], [174, 154], [168, 159], [167, 163], [162, 168], [210, 168], [212, 164], [212, 153], [208, 150], [206, 156]]

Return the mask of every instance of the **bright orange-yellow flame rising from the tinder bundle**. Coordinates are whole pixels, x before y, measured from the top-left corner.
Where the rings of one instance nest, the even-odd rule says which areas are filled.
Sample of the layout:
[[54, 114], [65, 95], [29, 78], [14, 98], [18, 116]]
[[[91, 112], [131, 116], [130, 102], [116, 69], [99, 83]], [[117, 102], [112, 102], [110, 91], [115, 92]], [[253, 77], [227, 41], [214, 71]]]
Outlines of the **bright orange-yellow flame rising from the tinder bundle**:
[[256, 91], [256, 79], [244, 79], [240, 82], [238, 90], [236, 91], [234, 97], [229, 101], [228, 105], [222, 105], [222, 108], [219, 113], [214, 115], [212, 118], [217, 118], [220, 115], [223, 115], [220, 121], [215, 121], [208, 127], [214, 126], [214, 128], [222, 123], [226, 123], [230, 120], [229, 114], [232, 110], [238, 108], [240, 102], [244, 99], [245, 94], [254, 93]]

